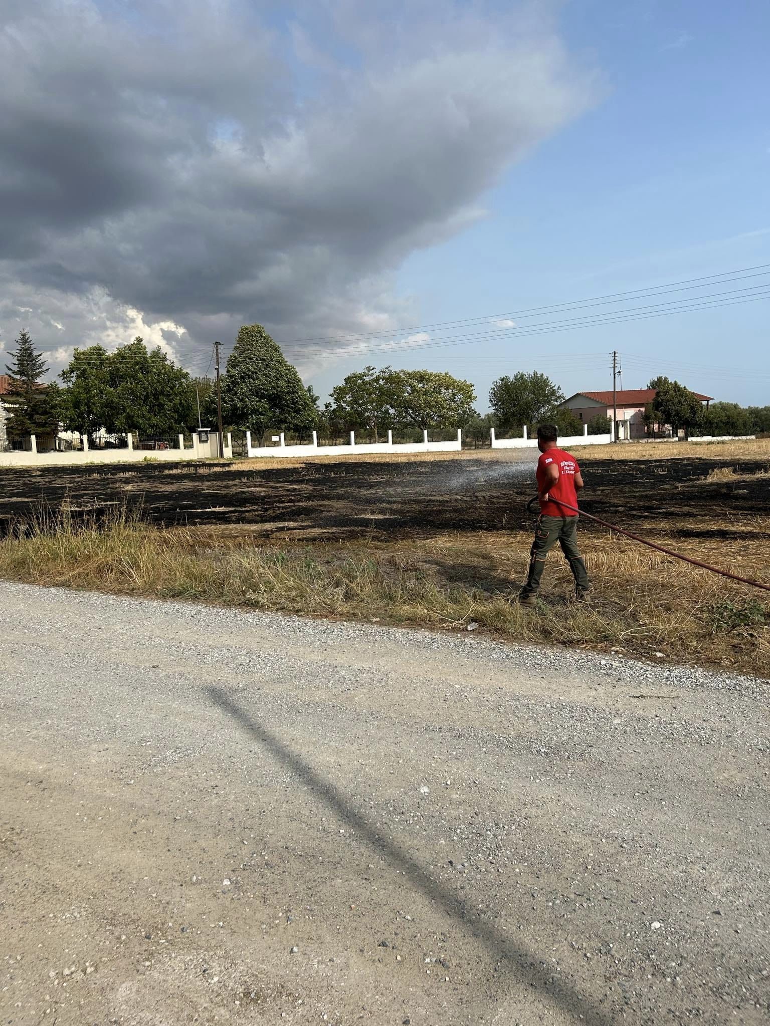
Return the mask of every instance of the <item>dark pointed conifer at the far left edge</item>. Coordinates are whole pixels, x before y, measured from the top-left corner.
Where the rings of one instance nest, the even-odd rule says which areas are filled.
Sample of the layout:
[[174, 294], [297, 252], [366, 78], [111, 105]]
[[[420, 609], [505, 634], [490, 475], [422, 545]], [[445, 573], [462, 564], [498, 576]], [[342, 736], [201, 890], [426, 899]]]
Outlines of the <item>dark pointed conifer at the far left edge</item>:
[[16, 348], [9, 354], [6, 367], [10, 379], [6, 404], [10, 407], [6, 431], [15, 435], [34, 435], [59, 431], [59, 390], [42, 383], [48, 366], [42, 353], [23, 328]]

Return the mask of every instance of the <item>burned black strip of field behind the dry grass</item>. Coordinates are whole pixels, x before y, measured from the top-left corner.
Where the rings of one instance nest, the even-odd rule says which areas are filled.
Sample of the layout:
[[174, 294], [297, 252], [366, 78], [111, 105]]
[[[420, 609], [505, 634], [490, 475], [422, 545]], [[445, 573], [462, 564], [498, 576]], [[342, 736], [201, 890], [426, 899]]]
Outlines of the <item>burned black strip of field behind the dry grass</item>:
[[[770, 536], [770, 523], [757, 521], [770, 517], [764, 463], [741, 461], [739, 476], [727, 481], [707, 479], [724, 459], [582, 459], [581, 466], [584, 510], [619, 526], [711, 543]], [[77, 518], [125, 506], [163, 526], [386, 542], [528, 529], [534, 458], [3, 469], [0, 485], [3, 535], [41, 511], [65, 508]], [[583, 529], [604, 530], [587, 520]]]

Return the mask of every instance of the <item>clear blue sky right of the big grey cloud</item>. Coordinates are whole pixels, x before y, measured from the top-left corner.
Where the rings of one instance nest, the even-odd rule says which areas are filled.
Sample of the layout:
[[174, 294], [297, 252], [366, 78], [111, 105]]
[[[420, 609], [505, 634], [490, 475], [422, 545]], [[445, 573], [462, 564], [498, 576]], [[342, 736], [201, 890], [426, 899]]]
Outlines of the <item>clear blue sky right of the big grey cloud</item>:
[[[573, 0], [560, 24], [569, 49], [596, 70], [600, 98], [505, 174], [483, 199], [483, 221], [406, 261], [398, 288], [418, 299], [419, 323], [770, 263], [770, 5]], [[568, 393], [611, 388], [605, 354], [617, 349], [624, 387], [662, 371], [720, 399], [764, 405], [769, 324], [766, 300], [384, 359], [470, 378], [482, 407], [494, 378], [516, 369], [547, 371]], [[561, 358], [586, 353], [602, 355]], [[338, 367], [318, 376], [319, 389], [338, 376]]]

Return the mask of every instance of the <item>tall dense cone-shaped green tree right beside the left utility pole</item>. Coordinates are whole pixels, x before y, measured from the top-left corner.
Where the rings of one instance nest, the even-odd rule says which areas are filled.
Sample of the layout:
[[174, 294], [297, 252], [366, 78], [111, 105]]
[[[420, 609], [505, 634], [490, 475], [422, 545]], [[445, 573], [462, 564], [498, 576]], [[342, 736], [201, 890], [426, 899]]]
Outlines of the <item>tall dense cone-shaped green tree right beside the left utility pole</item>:
[[244, 324], [222, 381], [222, 411], [228, 424], [253, 431], [310, 431], [317, 412], [297, 369], [261, 324]]

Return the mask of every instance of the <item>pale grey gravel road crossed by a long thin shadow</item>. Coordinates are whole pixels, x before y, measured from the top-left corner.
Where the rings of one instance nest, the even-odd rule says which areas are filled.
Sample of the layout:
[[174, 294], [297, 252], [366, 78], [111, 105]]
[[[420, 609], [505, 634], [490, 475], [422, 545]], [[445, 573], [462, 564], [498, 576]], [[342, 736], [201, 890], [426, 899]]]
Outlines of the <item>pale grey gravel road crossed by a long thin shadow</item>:
[[0, 609], [2, 1023], [767, 1021], [766, 684]]

